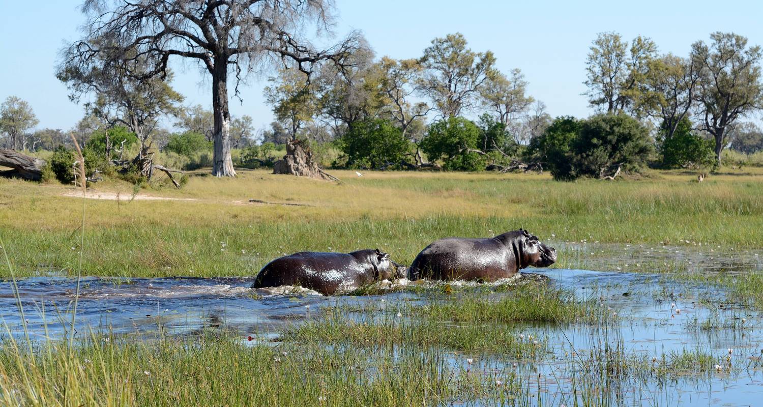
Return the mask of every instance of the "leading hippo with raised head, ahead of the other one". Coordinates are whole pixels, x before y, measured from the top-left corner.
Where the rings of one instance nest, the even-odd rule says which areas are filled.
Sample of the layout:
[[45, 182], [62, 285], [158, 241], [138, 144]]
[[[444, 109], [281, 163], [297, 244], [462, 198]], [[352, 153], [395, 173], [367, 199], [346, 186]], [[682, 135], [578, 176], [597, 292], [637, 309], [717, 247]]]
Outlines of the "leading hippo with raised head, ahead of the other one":
[[409, 279], [482, 279], [494, 281], [526, 266], [546, 267], [556, 250], [522, 229], [485, 239], [447, 237], [430, 244], [408, 270]]

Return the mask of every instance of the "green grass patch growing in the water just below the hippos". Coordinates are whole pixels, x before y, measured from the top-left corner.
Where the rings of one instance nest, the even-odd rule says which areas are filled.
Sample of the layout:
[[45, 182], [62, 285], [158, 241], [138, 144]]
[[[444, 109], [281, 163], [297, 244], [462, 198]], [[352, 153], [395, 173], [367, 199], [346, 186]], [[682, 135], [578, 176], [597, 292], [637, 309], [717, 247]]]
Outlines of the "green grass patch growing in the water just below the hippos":
[[430, 296], [426, 304], [379, 301], [338, 305], [316, 320], [295, 326], [283, 338], [360, 347], [418, 344], [522, 358], [545, 352], [547, 343], [518, 323], [604, 324], [609, 318], [594, 301], [578, 301], [568, 292], [538, 283], [498, 296], [485, 289], [464, 289], [458, 295]]

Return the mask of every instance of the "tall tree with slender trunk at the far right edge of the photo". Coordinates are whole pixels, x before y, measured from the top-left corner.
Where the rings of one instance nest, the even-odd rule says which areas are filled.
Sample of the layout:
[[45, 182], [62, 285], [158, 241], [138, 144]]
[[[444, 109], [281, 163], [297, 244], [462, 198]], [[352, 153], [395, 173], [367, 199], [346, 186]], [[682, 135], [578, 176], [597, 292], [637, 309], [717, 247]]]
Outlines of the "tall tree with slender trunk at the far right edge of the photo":
[[747, 47], [747, 38], [733, 33], [710, 34], [710, 45], [697, 41], [691, 59], [699, 81], [695, 99], [702, 130], [715, 138], [716, 163], [726, 146], [726, 130], [735, 121], [761, 107], [761, 47]]

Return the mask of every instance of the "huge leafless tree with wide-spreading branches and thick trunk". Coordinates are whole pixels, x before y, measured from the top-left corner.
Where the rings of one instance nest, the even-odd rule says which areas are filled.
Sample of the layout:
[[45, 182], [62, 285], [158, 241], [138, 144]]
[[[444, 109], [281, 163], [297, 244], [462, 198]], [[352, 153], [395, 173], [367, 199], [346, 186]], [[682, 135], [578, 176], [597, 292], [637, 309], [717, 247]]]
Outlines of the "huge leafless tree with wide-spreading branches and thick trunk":
[[[71, 63], [87, 64], [102, 53], [142, 57], [148, 76], [166, 76], [170, 57], [197, 60], [211, 75], [214, 112], [214, 176], [235, 176], [230, 158], [228, 74], [236, 89], [247, 73], [263, 63], [281, 61], [305, 73], [330, 60], [343, 66], [358, 47], [356, 34], [327, 50], [307, 41], [307, 27], [327, 33], [330, 0], [89, 0], [85, 38], [69, 47]], [[108, 43], [94, 46], [92, 39]]]

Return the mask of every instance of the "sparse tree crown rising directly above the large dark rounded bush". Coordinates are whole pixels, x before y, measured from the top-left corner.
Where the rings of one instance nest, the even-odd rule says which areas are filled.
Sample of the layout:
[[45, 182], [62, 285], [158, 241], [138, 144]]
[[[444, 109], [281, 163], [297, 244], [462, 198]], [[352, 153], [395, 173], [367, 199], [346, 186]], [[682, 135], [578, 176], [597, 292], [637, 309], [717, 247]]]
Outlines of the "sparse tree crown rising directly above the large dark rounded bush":
[[600, 33], [586, 59], [588, 102], [607, 113], [633, 110], [648, 62], [657, 54], [657, 45], [645, 37], [628, 42], [617, 33]]

